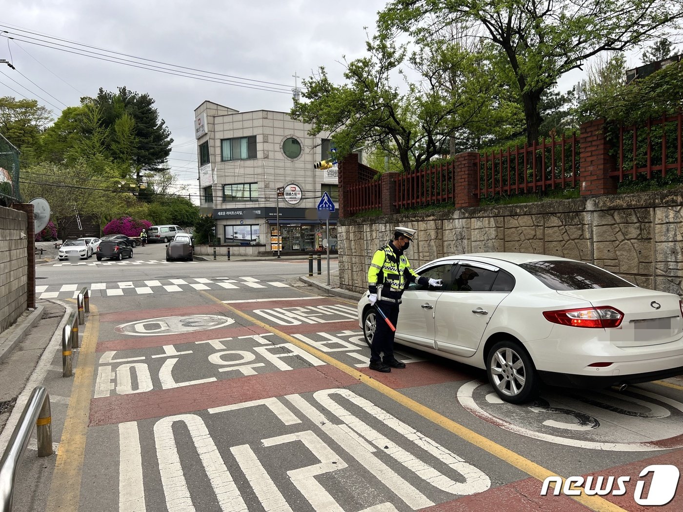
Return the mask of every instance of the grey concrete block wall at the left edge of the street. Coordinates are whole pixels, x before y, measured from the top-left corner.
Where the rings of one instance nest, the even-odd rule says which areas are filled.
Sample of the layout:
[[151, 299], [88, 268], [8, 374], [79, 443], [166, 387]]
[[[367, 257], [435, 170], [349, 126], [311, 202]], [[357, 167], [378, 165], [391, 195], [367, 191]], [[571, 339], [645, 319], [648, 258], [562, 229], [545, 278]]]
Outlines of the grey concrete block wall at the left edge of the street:
[[0, 332], [27, 309], [28, 255], [25, 212], [0, 207]]

